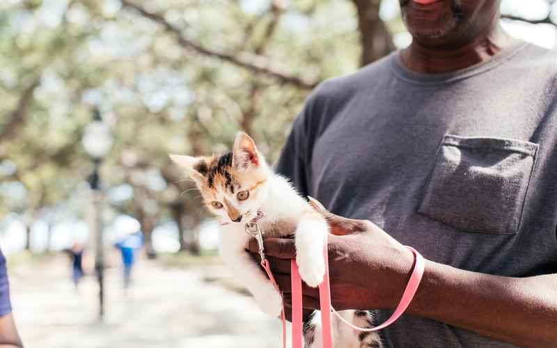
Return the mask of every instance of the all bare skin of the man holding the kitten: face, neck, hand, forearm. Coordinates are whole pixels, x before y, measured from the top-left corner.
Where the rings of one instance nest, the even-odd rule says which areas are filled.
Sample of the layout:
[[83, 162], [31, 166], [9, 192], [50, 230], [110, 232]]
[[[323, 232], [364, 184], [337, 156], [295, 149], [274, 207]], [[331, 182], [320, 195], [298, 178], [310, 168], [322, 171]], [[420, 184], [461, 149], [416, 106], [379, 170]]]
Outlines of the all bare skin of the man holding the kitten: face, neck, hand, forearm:
[[[500, 1], [441, 0], [419, 6], [401, 1], [414, 42], [402, 63], [425, 74], [453, 72], [489, 60], [513, 40], [499, 26]], [[314, 208], [329, 221], [331, 300], [338, 310], [394, 309], [414, 262], [410, 251], [370, 221]], [[281, 231], [293, 233], [294, 231]], [[257, 253], [257, 244], [247, 246]], [[292, 239], [266, 239], [265, 253], [290, 312]], [[304, 307], [319, 308], [316, 289], [303, 285]], [[456, 269], [425, 260], [425, 273], [407, 313], [510, 342], [557, 348], [557, 274], [512, 278]]]

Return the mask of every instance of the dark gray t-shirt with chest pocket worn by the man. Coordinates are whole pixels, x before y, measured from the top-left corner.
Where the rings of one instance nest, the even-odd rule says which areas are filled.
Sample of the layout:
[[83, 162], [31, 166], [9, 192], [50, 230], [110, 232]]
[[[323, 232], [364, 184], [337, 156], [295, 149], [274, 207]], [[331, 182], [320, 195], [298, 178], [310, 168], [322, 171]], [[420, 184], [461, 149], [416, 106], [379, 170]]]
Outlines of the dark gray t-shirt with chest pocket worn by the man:
[[[316, 88], [277, 171], [435, 262], [557, 273], [556, 80], [557, 53], [522, 41], [448, 74], [411, 72], [395, 52]], [[382, 335], [386, 347], [514, 347], [409, 315]]]

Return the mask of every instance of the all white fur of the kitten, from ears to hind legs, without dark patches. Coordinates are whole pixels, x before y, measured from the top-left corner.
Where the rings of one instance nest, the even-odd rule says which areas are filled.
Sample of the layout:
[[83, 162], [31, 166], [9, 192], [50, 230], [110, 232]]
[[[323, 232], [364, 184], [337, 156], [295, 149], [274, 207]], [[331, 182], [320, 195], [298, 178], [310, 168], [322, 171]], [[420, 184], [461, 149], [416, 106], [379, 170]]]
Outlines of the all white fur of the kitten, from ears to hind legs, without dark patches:
[[[194, 170], [196, 163], [201, 160], [200, 158], [171, 155], [171, 159], [178, 166], [187, 170], [200, 189], [203, 187], [203, 175]], [[207, 208], [217, 216], [217, 219], [226, 223], [220, 228], [220, 255], [235, 278], [253, 294], [263, 312], [272, 317], [278, 317], [283, 309], [282, 296], [267, 279], [259, 264], [253, 262], [251, 256], [246, 253], [246, 244], [252, 237], [246, 233], [245, 224], [251, 221], [260, 209], [264, 216], [258, 221], [258, 226], [264, 233], [272, 230], [274, 231], [273, 237], [281, 237], [284, 236], [281, 235], [282, 231], [284, 234], [288, 234], [291, 229], [276, 228], [276, 224], [288, 223], [296, 226], [296, 263], [301, 278], [311, 287], [317, 287], [324, 277], [323, 250], [327, 241], [329, 226], [324, 217], [315, 212], [313, 207], [299, 195], [285, 177], [274, 173], [269, 168], [264, 157], [258, 152], [255, 143], [247, 134], [240, 133], [236, 137], [233, 148], [233, 166], [239, 171], [252, 171], [254, 176], [266, 177], [266, 181], [258, 184], [258, 188], [254, 189], [253, 192], [250, 191], [250, 199], [244, 202], [234, 202], [233, 195], [231, 196], [221, 187], [217, 187], [214, 195], [209, 198], [227, 200], [227, 203], [242, 215], [242, 221], [235, 223], [231, 221], [232, 218], [230, 218], [226, 209], [214, 209], [210, 202], [207, 202]], [[253, 184], [254, 182], [248, 182], [246, 186], [238, 187], [236, 192]], [[207, 201], [207, 197], [205, 197], [205, 200]], [[368, 322], [362, 322], [363, 319], [355, 315], [354, 310], [343, 310], [339, 313], [353, 324], [369, 326]], [[311, 324], [315, 326], [315, 335], [313, 336], [315, 340], [310, 347], [321, 347], [319, 312], [313, 316]], [[334, 347], [338, 348], [372, 347], [369, 344], [374, 342], [380, 344], [377, 333], [366, 336], [366, 339], [361, 342], [358, 338], [359, 332], [350, 329], [341, 323], [338, 318], [334, 318], [333, 335]]]

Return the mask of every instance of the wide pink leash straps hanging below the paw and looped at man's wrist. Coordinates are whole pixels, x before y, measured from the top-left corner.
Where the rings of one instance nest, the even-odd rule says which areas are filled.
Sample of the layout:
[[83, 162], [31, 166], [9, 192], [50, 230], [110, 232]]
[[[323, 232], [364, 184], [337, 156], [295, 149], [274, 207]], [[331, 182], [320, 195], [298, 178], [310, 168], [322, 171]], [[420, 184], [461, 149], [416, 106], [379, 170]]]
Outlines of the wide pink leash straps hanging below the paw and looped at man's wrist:
[[[406, 285], [405, 291], [402, 293], [402, 299], [400, 299], [400, 303], [395, 308], [395, 311], [389, 319], [386, 320], [383, 324], [379, 326], [375, 326], [374, 328], [370, 329], [363, 329], [359, 326], [355, 326], [350, 322], [347, 322], [346, 319], [341, 317], [336, 310], [331, 306], [331, 287], [329, 283], [329, 258], [327, 254], [327, 244], [325, 244], [324, 248], [324, 256], [325, 256], [325, 276], [323, 279], [323, 283], [319, 285], [319, 295], [320, 295], [320, 308], [321, 308], [321, 323], [322, 323], [322, 341], [323, 347], [322, 348], [333, 348], [333, 340], [332, 340], [332, 326], [331, 326], [331, 312], [335, 313], [335, 315], [340, 319], [342, 322], [350, 326], [352, 329], [363, 331], [363, 332], [371, 332], [371, 331], [378, 331], [381, 329], [386, 328], [387, 326], [393, 324], [403, 313], [407, 310], [408, 306], [410, 305], [412, 299], [414, 299], [414, 295], [418, 290], [418, 286], [420, 285], [421, 279], [423, 277], [423, 271], [425, 268], [425, 261], [423, 257], [416, 249], [412, 248], [411, 246], [406, 246], [413, 254], [414, 254], [414, 268], [412, 269], [412, 273], [410, 275], [410, 279]], [[296, 260], [292, 260], [291, 262], [291, 271], [292, 271], [292, 348], [301, 348], [301, 278], [298, 272], [298, 267], [296, 265]]]

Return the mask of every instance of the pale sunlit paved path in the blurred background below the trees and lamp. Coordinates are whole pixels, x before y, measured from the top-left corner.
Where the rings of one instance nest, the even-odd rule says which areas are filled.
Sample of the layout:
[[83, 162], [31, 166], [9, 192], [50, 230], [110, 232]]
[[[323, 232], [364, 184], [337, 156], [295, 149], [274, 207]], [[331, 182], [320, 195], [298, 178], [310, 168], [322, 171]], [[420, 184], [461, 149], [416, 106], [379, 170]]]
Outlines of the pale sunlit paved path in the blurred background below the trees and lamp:
[[[107, 315], [96, 321], [97, 287], [86, 277], [79, 292], [65, 260], [37, 271], [10, 271], [12, 302], [29, 348], [276, 348], [280, 323], [253, 300], [203, 281], [198, 269], [134, 269], [125, 294], [120, 272], [107, 275]], [[138, 276], [141, 276], [139, 278]]]

